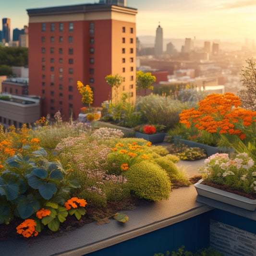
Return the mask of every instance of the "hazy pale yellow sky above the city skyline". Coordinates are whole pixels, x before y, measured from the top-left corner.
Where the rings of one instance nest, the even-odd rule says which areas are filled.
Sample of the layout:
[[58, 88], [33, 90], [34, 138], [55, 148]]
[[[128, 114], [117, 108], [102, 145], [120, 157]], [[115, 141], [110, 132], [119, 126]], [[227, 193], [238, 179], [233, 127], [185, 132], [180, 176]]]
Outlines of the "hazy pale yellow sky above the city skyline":
[[[0, 19], [10, 18], [12, 31], [28, 24], [26, 9], [95, 2], [4, 0]], [[256, 0], [127, 0], [127, 6], [138, 9], [137, 36], [155, 36], [160, 22], [165, 38], [256, 39]]]

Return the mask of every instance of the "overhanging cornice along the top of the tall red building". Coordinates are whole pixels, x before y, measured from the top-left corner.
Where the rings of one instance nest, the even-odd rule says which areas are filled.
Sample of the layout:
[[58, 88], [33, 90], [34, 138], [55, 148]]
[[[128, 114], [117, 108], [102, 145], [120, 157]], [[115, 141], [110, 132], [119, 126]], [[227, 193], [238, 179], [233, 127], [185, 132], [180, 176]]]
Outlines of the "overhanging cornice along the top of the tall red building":
[[29, 16], [65, 14], [70, 12], [85, 13], [85, 12], [117, 11], [117, 12], [130, 12], [134, 14], [137, 13], [137, 9], [135, 8], [122, 7], [118, 5], [112, 5], [112, 4], [77, 4], [77, 5], [27, 9], [26, 11]]

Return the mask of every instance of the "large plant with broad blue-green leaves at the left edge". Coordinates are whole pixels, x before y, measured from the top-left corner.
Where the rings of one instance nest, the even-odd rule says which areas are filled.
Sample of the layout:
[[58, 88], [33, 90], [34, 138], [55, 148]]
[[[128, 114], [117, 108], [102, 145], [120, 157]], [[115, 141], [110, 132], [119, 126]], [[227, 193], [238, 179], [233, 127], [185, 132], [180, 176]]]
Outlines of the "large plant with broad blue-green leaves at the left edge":
[[14, 216], [27, 219], [49, 200], [63, 205], [71, 188], [79, 187], [61, 163], [48, 162], [46, 156], [40, 148], [5, 161], [6, 171], [0, 176], [0, 224], [8, 224]]

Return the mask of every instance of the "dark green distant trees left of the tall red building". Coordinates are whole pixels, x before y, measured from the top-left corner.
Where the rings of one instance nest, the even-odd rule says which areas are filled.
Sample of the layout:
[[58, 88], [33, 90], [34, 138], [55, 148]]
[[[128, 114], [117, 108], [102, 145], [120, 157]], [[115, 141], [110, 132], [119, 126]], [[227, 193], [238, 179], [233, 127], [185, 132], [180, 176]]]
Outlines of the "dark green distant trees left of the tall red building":
[[22, 47], [0, 47], [0, 65], [27, 66], [28, 49]]

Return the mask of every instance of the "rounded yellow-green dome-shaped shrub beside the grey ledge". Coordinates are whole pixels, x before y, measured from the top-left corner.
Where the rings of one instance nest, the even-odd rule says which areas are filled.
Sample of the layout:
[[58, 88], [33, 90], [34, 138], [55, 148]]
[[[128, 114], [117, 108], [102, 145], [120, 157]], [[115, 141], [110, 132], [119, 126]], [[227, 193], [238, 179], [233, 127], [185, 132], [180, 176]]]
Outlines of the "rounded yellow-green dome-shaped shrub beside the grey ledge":
[[129, 168], [124, 176], [134, 194], [139, 198], [152, 201], [168, 199], [171, 192], [171, 182], [167, 173], [157, 164], [140, 162]]

